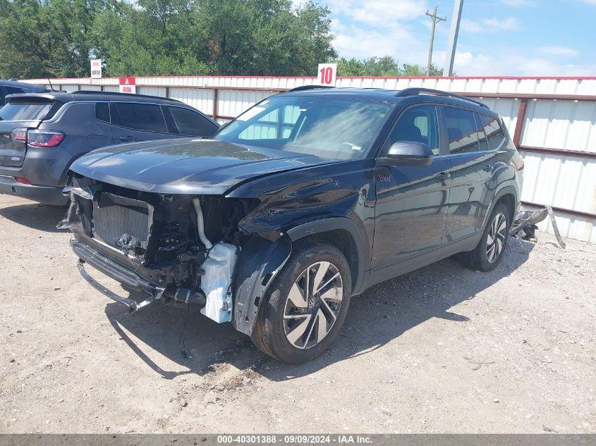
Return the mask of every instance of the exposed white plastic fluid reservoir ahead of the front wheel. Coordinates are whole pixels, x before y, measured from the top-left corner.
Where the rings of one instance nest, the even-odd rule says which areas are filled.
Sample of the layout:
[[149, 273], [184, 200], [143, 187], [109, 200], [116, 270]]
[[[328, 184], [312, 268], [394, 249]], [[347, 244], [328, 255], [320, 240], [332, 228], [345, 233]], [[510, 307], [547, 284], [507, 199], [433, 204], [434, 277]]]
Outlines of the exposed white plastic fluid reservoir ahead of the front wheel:
[[230, 285], [235, 264], [236, 247], [229, 243], [216, 244], [202, 264], [205, 275], [201, 277], [201, 290], [205, 292], [207, 303], [201, 313], [216, 322], [231, 321]]

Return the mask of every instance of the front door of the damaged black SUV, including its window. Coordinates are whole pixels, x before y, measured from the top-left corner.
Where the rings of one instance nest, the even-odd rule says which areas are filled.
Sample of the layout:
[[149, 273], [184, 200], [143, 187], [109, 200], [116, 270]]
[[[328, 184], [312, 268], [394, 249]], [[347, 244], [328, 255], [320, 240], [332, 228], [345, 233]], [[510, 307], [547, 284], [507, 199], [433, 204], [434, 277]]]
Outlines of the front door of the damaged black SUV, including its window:
[[436, 106], [412, 106], [401, 113], [385, 144], [414, 141], [436, 155], [430, 166], [375, 168], [377, 204], [372, 268], [384, 268], [438, 249], [442, 244], [449, 203], [449, 159], [440, 156]]

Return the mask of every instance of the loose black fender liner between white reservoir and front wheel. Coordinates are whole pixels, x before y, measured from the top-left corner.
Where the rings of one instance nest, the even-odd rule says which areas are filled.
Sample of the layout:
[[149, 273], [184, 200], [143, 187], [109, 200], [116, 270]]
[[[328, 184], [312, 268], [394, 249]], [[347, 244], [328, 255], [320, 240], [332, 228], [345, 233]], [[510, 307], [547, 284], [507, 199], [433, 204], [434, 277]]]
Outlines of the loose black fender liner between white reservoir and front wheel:
[[233, 279], [232, 323], [236, 330], [251, 335], [262, 297], [292, 253], [287, 235], [274, 241], [253, 235], [242, 247]]

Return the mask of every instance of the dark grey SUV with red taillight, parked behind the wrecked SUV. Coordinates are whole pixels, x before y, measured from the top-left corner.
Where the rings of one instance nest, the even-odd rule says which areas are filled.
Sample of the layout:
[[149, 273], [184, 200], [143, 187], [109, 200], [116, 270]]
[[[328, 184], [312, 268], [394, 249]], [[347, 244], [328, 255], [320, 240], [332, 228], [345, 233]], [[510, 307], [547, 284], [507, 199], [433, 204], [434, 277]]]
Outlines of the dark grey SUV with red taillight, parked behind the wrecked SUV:
[[12, 94], [0, 109], [0, 193], [64, 205], [71, 163], [121, 142], [210, 137], [219, 125], [174, 99], [109, 92]]

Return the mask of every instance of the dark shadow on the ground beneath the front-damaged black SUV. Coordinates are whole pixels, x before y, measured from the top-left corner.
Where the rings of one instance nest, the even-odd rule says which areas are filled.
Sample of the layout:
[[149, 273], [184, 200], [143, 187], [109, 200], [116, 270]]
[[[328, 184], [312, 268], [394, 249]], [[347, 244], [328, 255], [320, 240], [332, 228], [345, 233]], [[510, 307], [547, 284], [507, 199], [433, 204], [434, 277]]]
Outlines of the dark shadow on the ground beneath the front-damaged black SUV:
[[[269, 380], [287, 380], [381, 348], [430, 318], [466, 323], [469, 320], [466, 316], [449, 309], [474, 299], [479, 292], [510, 275], [528, 259], [533, 247], [533, 243], [511, 238], [503, 261], [489, 273], [470, 271], [458, 259], [451, 258], [371, 287], [352, 300], [332, 349], [298, 366], [265, 366], [274, 360], [254, 347], [248, 337], [230, 323], [217, 324], [197, 314], [197, 309], [186, 316], [184, 309], [154, 304], [138, 314], [127, 314], [125, 306], [114, 303], [107, 306], [106, 314], [130, 349], [166, 379], [185, 373], [209, 373], [216, 364], [232, 364], [241, 369], [255, 364], [256, 372]], [[462, 287], [463, 284], [466, 286]], [[183, 330], [185, 319], [186, 330]], [[141, 347], [126, 332], [145, 345]], [[186, 333], [186, 351], [190, 358], [181, 352], [182, 333]], [[151, 359], [156, 356], [155, 352], [188, 370], [163, 370]]]

